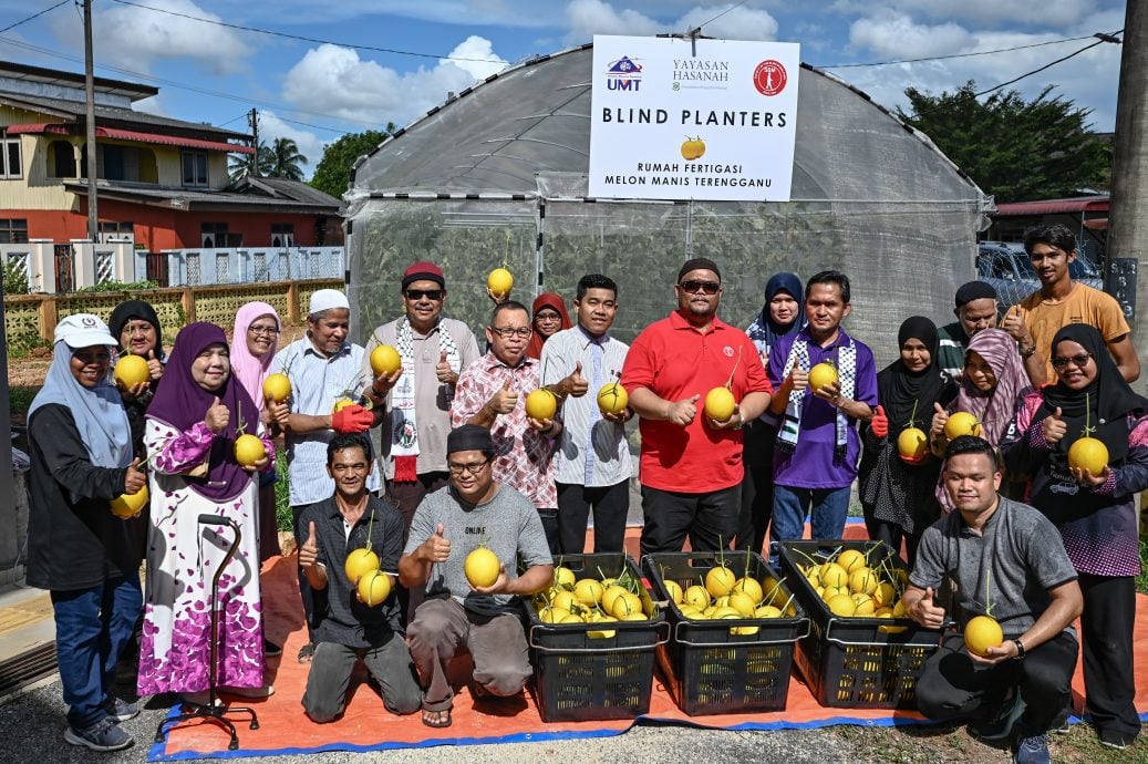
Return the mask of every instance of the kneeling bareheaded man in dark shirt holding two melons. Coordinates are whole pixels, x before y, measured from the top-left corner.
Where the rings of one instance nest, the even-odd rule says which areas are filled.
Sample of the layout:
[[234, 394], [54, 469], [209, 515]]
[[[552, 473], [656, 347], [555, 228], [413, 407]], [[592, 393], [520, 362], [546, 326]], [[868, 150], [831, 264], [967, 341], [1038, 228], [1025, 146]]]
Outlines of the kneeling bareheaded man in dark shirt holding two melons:
[[316, 648], [303, 708], [315, 721], [336, 719], [347, 707], [351, 672], [362, 659], [382, 688], [387, 710], [413, 713], [421, 693], [400, 626], [397, 597], [391, 594], [369, 607], [343, 571], [347, 555], [370, 547], [383, 574], [395, 576], [403, 517], [367, 493], [371, 458], [362, 435], [335, 435], [327, 445], [327, 472], [335, 481], [334, 496], [308, 507], [295, 526], [308, 530], [305, 539], [297, 539], [298, 564], [317, 595]]

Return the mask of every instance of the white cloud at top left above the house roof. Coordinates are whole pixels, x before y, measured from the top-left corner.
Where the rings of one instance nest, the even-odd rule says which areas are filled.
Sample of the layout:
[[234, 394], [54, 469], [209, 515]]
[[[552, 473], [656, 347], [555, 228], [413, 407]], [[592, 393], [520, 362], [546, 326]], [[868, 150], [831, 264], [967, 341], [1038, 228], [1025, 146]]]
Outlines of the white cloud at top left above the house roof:
[[[164, 10], [224, 21], [192, 0], [149, 0], [148, 5]], [[204, 24], [157, 13], [137, 6], [98, 5], [92, 18], [96, 60], [134, 71], [150, 71], [160, 60], [180, 59], [211, 75], [243, 71], [251, 55], [250, 37], [216, 24]], [[83, 25], [72, 14], [51, 17], [49, 25], [57, 38], [84, 49]]]

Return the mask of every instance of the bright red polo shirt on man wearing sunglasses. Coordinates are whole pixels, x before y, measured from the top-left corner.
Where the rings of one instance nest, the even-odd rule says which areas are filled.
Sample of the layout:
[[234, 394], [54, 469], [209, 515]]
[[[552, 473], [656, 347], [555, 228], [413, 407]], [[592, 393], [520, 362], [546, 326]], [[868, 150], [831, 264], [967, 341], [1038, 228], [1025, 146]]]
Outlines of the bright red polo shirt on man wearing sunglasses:
[[637, 335], [622, 366], [626, 389], [645, 387], [667, 401], [701, 396], [698, 415], [684, 427], [645, 418], [638, 423], [642, 485], [708, 493], [742, 481], [742, 431], [711, 429], [701, 410], [706, 393], [724, 385], [731, 372], [737, 401], [746, 393], [773, 392], [750, 338], [716, 317], [701, 334], [675, 310]]

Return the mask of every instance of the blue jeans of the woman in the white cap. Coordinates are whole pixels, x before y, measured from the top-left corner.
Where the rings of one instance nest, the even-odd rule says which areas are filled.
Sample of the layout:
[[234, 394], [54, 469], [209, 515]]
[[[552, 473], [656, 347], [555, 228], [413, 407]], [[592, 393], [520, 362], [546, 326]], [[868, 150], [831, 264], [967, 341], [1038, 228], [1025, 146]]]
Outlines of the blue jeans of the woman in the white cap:
[[88, 727], [108, 712], [116, 663], [144, 607], [139, 576], [111, 578], [88, 589], [52, 592], [56, 662], [69, 705], [68, 724]]

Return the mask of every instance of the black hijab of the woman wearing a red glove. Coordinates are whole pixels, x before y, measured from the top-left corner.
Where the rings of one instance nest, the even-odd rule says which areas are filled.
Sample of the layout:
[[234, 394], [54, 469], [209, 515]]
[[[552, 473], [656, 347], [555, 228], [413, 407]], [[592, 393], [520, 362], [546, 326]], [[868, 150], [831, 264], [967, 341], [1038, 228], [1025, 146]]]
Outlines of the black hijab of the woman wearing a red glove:
[[[929, 365], [923, 371], [909, 371], [900, 357], [900, 348], [916, 339], [929, 348]], [[955, 386], [946, 381], [937, 368], [937, 352], [940, 338], [937, 325], [924, 316], [906, 318], [897, 332], [897, 361], [877, 375], [877, 395], [889, 417], [889, 437], [894, 440], [902, 430], [913, 426], [929, 430], [933, 415], [933, 403], [945, 406], [952, 400]], [[914, 406], [916, 411], [914, 412]]]

